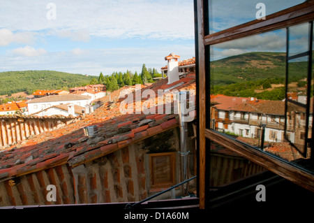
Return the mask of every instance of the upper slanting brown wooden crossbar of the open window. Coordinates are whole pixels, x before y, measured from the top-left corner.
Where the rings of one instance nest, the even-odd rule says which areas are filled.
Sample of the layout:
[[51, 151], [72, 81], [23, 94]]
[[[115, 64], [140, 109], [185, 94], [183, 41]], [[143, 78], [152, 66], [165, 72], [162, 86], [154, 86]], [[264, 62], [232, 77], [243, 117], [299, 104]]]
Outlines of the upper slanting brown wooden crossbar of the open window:
[[314, 1], [307, 1], [298, 6], [281, 10], [278, 13], [267, 15], [266, 20], [253, 20], [231, 27], [223, 31], [205, 36], [204, 44], [213, 45], [226, 41], [262, 34], [275, 29], [314, 20]]

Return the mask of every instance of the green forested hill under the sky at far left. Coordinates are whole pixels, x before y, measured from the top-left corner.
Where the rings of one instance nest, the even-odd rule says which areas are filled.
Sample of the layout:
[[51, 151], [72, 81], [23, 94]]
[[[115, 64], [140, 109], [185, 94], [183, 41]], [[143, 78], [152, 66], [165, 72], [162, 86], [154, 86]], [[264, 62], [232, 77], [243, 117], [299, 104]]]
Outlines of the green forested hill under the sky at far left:
[[68, 89], [89, 84], [95, 76], [59, 71], [7, 71], [0, 73], [0, 95], [37, 89]]

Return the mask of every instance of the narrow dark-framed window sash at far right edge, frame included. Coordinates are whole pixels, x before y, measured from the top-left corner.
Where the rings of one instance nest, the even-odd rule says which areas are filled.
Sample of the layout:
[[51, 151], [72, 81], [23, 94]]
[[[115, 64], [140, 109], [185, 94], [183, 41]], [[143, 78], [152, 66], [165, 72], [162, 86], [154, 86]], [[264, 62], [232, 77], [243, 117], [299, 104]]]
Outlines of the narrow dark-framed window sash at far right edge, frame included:
[[313, 148], [313, 21], [287, 27], [285, 139], [306, 158]]

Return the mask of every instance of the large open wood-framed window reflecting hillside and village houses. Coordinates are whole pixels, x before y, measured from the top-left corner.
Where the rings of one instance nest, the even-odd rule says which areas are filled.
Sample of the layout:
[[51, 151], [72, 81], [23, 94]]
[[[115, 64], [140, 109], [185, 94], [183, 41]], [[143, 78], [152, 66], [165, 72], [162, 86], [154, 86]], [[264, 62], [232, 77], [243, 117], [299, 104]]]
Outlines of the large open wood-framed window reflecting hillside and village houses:
[[314, 1], [195, 6], [200, 208], [225, 187], [218, 170], [233, 185], [264, 168], [314, 192]]

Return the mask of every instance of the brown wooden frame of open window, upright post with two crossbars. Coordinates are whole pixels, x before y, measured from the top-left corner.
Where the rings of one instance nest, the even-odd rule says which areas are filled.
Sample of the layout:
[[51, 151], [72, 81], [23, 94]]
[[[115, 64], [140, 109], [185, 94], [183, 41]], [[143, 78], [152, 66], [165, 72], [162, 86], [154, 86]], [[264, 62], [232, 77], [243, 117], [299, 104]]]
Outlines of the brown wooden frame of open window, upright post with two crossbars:
[[[295, 24], [314, 20], [314, 1], [306, 1], [277, 13], [267, 15], [266, 20], [253, 20], [231, 27], [214, 34], [209, 34], [208, 1], [195, 0], [195, 71], [197, 87], [197, 196], [200, 208], [205, 208], [208, 198], [206, 188], [209, 185], [209, 152], [206, 148], [210, 141], [223, 145], [225, 148], [241, 154], [244, 158], [254, 161], [264, 168], [295, 182], [297, 185], [314, 192], [314, 176], [305, 169], [288, 164], [272, 154], [251, 148], [244, 143], [235, 141], [228, 136], [210, 129], [210, 92], [209, 92], [209, 46], [217, 43], [262, 34], [276, 29], [283, 29]], [[206, 205], [207, 206], [207, 205]]]

